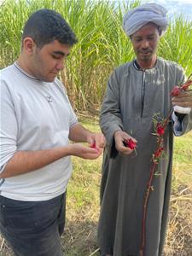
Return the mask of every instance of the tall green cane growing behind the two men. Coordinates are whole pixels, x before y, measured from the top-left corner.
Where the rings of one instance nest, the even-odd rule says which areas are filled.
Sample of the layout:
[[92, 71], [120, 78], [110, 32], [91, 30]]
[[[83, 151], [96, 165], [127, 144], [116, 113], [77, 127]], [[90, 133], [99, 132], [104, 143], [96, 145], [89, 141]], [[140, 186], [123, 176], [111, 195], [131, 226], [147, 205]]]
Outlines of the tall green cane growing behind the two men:
[[[146, 1], [145, 1], [146, 2]], [[5, 0], [0, 8], [0, 67], [12, 63], [20, 52], [22, 27], [37, 9], [55, 9], [79, 38], [61, 72], [73, 108], [99, 108], [113, 67], [131, 61], [131, 42], [122, 29], [123, 15], [141, 1], [110, 0]], [[159, 55], [192, 71], [192, 22], [175, 17]]]

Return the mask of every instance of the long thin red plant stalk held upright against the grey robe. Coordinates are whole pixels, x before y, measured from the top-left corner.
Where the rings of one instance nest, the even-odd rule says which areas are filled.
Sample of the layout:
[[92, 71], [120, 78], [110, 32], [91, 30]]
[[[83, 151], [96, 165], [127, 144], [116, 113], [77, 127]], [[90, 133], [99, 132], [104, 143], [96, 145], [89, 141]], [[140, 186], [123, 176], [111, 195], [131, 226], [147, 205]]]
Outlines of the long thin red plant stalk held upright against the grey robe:
[[[189, 78], [187, 79], [187, 81], [184, 84], [182, 84], [179, 87], [175, 86], [172, 89], [171, 96], [177, 96], [181, 91], [187, 90], [189, 88], [189, 86], [192, 84], [191, 78], [192, 78], [192, 73], [189, 75]], [[164, 129], [166, 129], [166, 125], [168, 124], [171, 115], [172, 115], [172, 110], [170, 111], [170, 113], [168, 114], [166, 119], [164, 120], [164, 124], [163, 124]], [[144, 248], [145, 248], [145, 241], [146, 241], [145, 236], [146, 236], [146, 215], [147, 215], [148, 199], [149, 199], [150, 192], [153, 190], [152, 182], [154, 179], [154, 170], [155, 170], [156, 165], [158, 165], [158, 158], [160, 157], [161, 151], [163, 150], [162, 144], [163, 144], [163, 138], [160, 137], [158, 139], [158, 147], [153, 155], [153, 159], [152, 159], [153, 165], [151, 166], [151, 169], [150, 169], [150, 176], [148, 179], [148, 185], [147, 185], [146, 194], [145, 194], [144, 203], [143, 203], [142, 242], [141, 242], [141, 247], [140, 247], [140, 251], [139, 251], [140, 256], [144, 256]]]

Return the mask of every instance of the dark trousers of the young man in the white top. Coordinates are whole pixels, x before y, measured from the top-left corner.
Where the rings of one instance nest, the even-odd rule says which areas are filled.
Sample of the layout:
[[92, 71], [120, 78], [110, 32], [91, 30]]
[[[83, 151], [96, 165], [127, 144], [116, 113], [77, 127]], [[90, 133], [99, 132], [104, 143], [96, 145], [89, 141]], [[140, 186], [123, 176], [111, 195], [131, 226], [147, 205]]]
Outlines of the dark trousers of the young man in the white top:
[[66, 194], [49, 201], [0, 195], [0, 231], [16, 256], [62, 256]]

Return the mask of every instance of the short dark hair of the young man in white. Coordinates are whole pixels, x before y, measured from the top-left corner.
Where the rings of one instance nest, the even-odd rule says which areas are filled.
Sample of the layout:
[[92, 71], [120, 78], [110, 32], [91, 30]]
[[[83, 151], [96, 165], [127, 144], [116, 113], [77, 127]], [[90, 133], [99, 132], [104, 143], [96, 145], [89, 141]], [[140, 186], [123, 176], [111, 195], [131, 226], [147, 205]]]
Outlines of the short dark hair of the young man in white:
[[55, 40], [70, 46], [78, 42], [67, 21], [51, 9], [39, 9], [29, 17], [23, 29], [22, 42], [26, 37], [32, 38], [39, 48]]

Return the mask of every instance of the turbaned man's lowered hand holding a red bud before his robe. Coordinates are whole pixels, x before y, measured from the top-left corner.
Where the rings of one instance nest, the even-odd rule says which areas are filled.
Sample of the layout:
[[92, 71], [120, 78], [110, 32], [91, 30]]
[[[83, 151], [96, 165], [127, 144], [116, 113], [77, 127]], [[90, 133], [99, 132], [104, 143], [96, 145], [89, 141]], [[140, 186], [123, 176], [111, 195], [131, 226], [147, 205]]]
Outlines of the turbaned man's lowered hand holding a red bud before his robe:
[[119, 153], [131, 154], [133, 149], [125, 147], [125, 144], [124, 144], [124, 141], [130, 138], [135, 143], [137, 143], [137, 140], [129, 136], [125, 131], [115, 131], [114, 133], [115, 148], [119, 151]]

